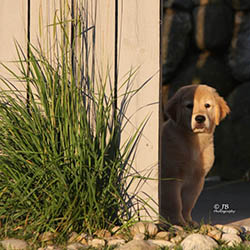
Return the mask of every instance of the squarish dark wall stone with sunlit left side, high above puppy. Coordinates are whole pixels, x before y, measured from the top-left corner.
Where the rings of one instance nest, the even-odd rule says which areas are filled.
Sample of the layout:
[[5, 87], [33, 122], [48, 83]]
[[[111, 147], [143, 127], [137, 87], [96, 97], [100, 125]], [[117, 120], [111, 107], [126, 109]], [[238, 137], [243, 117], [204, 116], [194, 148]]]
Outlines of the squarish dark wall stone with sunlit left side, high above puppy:
[[200, 50], [226, 50], [233, 31], [233, 11], [224, 4], [202, 5], [193, 10], [194, 40]]

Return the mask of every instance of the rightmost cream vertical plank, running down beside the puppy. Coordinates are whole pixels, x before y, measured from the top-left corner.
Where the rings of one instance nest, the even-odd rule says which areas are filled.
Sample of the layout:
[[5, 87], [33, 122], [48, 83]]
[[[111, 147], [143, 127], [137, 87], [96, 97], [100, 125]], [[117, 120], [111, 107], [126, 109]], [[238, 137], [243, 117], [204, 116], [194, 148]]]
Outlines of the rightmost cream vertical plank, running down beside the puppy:
[[[119, 1], [119, 84], [129, 70], [136, 70], [134, 89], [146, 85], [130, 103], [131, 126], [125, 138], [149, 118], [137, 149], [135, 168], [147, 180], [139, 195], [158, 212], [159, 88], [160, 88], [160, 0]], [[119, 88], [119, 87], [118, 87]], [[132, 115], [134, 114], [134, 115]], [[131, 191], [134, 192], [136, 183]], [[147, 207], [147, 206], [146, 206]], [[147, 207], [150, 216], [157, 214]], [[148, 217], [144, 211], [142, 215]]]

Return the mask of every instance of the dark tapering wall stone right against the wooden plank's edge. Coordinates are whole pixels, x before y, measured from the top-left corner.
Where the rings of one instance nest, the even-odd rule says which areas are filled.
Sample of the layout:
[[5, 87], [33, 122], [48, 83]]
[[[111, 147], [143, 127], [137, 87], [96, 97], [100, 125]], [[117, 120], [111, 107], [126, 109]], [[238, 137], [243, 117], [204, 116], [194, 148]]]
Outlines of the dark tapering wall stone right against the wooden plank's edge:
[[162, 77], [169, 81], [184, 58], [190, 43], [191, 15], [166, 9], [162, 28]]

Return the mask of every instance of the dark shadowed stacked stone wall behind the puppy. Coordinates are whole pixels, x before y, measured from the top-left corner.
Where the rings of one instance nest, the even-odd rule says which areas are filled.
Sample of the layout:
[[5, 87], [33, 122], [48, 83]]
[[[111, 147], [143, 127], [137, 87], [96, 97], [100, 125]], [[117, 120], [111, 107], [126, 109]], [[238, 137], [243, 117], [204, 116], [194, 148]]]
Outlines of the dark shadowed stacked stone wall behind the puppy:
[[163, 103], [181, 86], [208, 84], [232, 112], [216, 129], [212, 174], [249, 178], [250, 1], [165, 0]]

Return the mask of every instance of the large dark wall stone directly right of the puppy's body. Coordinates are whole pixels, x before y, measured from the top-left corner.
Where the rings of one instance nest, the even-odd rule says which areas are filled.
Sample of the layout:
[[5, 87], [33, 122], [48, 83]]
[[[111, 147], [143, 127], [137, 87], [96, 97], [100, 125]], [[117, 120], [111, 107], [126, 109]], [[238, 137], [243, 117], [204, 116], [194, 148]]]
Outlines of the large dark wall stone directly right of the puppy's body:
[[[232, 112], [223, 121], [223, 126], [218, 126], [215, 131], [216, 162], [214, 167], [218, 175], [225, 180], [241, 179], [249, 170], [249, 95], [250, 82], [243, 83], [234, 89], [226, 99]], [[235, 150], [236, 145], [237, 150]]]

